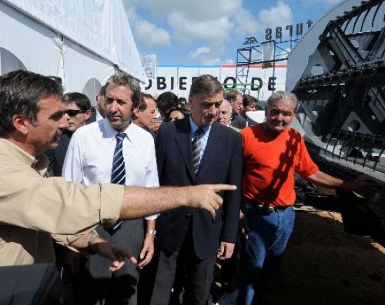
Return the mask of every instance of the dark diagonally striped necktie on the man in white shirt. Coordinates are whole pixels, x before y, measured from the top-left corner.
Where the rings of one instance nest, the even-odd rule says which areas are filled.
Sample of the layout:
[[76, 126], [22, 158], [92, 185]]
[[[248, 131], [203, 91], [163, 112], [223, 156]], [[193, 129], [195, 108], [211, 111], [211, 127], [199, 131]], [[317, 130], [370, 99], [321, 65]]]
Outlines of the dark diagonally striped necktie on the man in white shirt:
[[[111, 183], [114, 184], [124, 185], [126, 180], [125, 159], [123, 158], [124, 139], [125, 134], [123, 132], [118, 132], [118, 134], [116, 134], [116, 146], [115, 151], [113, 152], [113, 162], [111, 171]], [[118, 220], [116, 225], [113, 225], [112, 232], [118, 231], [122, 224], [123, 220]]]

